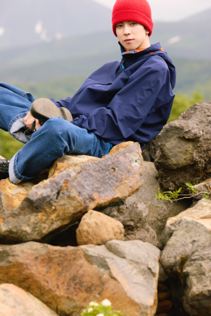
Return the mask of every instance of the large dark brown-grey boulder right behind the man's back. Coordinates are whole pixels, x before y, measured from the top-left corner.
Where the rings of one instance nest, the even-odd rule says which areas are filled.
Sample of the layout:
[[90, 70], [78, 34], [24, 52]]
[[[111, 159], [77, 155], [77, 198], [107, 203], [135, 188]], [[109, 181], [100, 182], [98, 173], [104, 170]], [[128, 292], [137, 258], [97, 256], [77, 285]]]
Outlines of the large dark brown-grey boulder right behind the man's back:
[[157, 136], [155, 166], [163, 191], [211, 178], [211, 101], [196, 103]]

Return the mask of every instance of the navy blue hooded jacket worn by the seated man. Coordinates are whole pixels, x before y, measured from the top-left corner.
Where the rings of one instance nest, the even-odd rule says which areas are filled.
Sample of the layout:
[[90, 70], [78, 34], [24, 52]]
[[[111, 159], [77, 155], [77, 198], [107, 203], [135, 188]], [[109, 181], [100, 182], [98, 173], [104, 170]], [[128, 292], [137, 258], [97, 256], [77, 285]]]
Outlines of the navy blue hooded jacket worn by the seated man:
[[121, 46], [121, 62], [95, 71], [72, 98], [52, 100], [71, 112], [72, 124], [114, 145], [138, 141], [143, 149], [166, 124], [174, 99], [176, 70], [160, 48], [130, 53]]

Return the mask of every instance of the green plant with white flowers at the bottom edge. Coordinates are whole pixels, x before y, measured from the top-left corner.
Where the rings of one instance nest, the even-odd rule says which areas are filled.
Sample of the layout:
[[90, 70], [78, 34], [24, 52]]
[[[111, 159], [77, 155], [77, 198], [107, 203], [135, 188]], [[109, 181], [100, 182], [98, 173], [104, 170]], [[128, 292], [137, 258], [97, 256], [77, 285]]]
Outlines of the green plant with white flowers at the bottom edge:
[[101, 303], [90, 302], [81, 316], [123, 316], [120, 311], [113, 311], [109, 300], [105, 299]]

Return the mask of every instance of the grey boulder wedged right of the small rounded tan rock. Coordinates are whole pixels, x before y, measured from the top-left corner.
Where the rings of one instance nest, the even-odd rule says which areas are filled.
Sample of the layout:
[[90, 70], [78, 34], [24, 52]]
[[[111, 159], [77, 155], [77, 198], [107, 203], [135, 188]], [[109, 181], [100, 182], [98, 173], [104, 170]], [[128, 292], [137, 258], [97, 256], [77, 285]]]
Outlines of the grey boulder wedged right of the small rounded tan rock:
[[124, 202], [109, 205], [101, 211], [124, 225], [125, 236], [128, 236], [128, 239], [133, 235], [134, 239], [147, 241], [162, 248], [160, 236], [167, 219], [189, 208], [192, 202], [182, 200], [170, 203], [156, 200], [156, 191], [159, 188], [157, 178], [158, 171], [154, 164], [144, 161], [144, 185]]

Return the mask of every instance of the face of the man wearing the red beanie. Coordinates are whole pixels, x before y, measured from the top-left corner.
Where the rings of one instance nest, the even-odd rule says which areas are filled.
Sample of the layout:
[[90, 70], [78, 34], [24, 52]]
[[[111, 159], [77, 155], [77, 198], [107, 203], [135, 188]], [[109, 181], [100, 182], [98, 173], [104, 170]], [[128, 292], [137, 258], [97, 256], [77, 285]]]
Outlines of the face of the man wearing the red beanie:
[[120, 22], [116, 25], [119, 42], [128, 50], [148, 48], [149, 31], [143, 25], [133, 21]]

